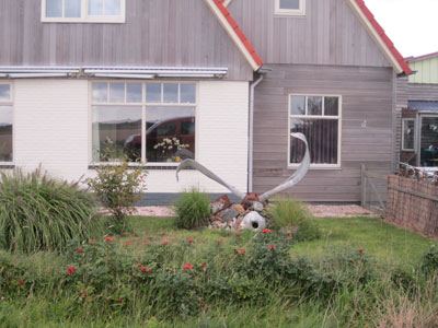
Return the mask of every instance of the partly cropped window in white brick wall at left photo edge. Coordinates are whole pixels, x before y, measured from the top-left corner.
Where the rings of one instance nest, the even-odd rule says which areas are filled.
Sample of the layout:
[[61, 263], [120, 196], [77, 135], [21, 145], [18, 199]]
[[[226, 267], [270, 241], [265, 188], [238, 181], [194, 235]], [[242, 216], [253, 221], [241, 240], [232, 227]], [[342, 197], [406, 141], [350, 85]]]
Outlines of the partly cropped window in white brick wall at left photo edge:
[[12, 162], [12, 86], [0, 82], [0, 164]]

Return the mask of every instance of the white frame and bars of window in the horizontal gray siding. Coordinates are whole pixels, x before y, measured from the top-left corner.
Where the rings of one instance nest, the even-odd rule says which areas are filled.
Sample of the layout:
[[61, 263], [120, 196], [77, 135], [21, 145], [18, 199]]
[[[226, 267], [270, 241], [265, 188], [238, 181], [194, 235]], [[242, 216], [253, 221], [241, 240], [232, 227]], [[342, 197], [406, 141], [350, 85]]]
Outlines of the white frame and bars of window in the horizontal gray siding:
[[[291, 115], [290, 114], [290, 105], [292, 96], [304, 96], [306, 97], [306, 115]], [[322, 101], [322, 115], [308, 115], [308, 97], [323, 97]], [[299, 93], [290, 93], [288, 95], [288, 155], [287, 155], [287, 166], [290, 169], [296, 169], [300, 165], [299, 163], [290, 163], [290, 119], [292, 118], [301, 118], [301, 119], [337, 119], [337, 163], [335, 164], [312, 164], [310, 163], [310, 169], [339, 169], [341, 168], [341, 154], [342, 154], [342, 95], [336, 94], [299, 94]], [[337, 97], [339, 98], [339, 107], [337, 116], [331, 115], [325, 116], [325, 104], [324, 97]]]

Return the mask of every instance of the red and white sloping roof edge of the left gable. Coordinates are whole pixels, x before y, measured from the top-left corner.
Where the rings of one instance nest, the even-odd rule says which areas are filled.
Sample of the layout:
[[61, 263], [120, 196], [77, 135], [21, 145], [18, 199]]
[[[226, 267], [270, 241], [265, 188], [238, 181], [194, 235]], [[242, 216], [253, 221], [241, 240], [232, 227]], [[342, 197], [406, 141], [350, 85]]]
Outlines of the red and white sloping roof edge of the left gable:
[[257, 71], [263, 66], [263, 60], [260, 58], [254, 47], [247, 40], [245, 34], [239, 27], [238, 23], [231, 16], [229, 10], [223, 5], [223, 0], [204, 0], [214, 15], [219, 20], [219, 23], [231, 37], [243, 57], [253, 69]]

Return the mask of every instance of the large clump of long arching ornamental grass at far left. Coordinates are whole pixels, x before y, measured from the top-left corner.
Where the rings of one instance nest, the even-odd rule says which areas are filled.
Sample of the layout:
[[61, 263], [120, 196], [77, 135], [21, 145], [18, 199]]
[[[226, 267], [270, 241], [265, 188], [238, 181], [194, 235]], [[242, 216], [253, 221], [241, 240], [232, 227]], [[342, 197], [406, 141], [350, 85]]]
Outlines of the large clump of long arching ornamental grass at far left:
[[70, 239], [99, 236], [95, 203], [78, 185], [56, 180], [41, 168], [2, 173], [0, 245], [10, 251], [60, 250]]

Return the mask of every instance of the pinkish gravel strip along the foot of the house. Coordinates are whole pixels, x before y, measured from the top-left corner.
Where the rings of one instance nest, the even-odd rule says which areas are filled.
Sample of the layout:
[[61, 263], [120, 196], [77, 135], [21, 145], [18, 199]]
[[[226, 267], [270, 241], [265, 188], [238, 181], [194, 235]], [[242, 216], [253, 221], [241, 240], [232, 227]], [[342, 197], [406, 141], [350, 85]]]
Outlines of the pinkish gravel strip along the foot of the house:
[[[318, 218], [356, 218], [369, 216], [378, 218], [378, 215], [359, 206], [308, 206], [309, 210]], [[137, 208], [135, 215], [141, 216], [174, 216], [175, 211], [172, 207], [143, 207]]]

